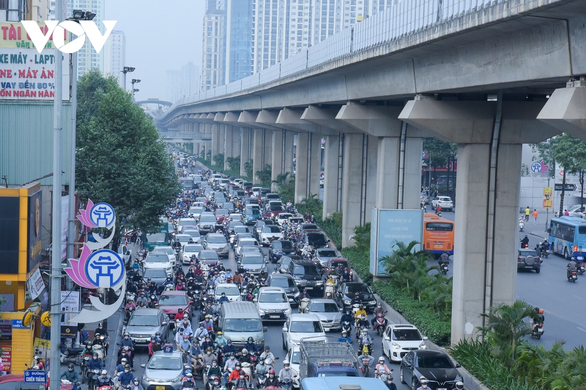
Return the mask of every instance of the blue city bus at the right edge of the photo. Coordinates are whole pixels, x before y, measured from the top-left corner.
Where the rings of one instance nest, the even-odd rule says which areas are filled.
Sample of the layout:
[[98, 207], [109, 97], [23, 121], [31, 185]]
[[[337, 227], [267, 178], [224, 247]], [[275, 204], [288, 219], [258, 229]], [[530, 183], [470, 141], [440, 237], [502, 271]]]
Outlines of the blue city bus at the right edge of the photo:
[[567, 259], [586, 253], [586, 220], [570, 216], [552, 218], [547, 231], [553, 253]]

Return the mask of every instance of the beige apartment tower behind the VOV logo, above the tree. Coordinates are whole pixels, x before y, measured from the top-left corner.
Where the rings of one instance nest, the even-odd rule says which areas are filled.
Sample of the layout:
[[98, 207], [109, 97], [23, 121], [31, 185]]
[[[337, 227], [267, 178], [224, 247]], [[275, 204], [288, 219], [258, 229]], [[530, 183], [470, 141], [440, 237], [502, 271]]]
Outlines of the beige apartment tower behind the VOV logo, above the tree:
[[[51, 0], [54, 3], [53, 0]], [[105, 0], [67, 0], [67, 15], [73, 15], [74, 9], [81, 9], [81, 11], [91, 11], [96, 14], [94, 22], [102, 34], [105, 29], [102, 21], [104, 20], [104, 5]], [[54, 14], [54, 9], [53, 9]], [[104, 49], [100, 53], [91, 46], [90, 40], [86, 39], [86, 43], [79, 51], [77, 51], [77, 78], [80, 78], [91, 69], [98, 68], [104, 72]]]

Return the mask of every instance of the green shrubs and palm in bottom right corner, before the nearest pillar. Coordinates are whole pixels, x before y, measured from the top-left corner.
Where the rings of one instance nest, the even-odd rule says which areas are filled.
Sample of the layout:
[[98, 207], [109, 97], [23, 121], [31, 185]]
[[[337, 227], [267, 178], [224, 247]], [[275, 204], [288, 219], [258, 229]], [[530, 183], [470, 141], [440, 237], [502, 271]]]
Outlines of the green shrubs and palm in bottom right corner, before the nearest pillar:
[[491, 390], [586, 389], [583, 346], [565, 352], [563, 341], [546, 350], [524, 340], [535, 314], [535, 308], [521, 300], [495, 305], [481, 315], [486, 325], [477, 330], [482, 337], [460, 341], [450, 348], [451, 354]]

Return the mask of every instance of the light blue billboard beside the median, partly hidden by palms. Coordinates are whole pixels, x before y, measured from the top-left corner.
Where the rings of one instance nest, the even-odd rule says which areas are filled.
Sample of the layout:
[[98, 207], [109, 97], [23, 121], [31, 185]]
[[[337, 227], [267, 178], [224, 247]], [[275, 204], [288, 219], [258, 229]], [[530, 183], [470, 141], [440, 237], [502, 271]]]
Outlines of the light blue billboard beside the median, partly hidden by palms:
[[[370, 219], [370, 273], [386, 275], [381, 257], [390, 256], [395, 241], [423, 240], [423, 210], [372, 209]], [[415, 250], [420, 250], [416, 246]]]

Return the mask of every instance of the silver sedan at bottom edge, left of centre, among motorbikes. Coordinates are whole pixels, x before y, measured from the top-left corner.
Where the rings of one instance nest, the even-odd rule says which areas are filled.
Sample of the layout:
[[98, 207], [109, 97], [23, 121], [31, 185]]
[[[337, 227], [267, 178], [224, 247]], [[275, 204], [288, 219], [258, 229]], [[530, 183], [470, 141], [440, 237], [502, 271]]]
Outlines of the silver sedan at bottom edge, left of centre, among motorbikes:
[[[189, 356], [180, 352], [156, 351], [147, 364], [141, 364], [145, 369], [141, 378], [141, 386], [144, 389], [168, 389], [171, 386], [174, 390], [181, 387], [183, 367], [190, 364]], [[156, 386], [156, 387], [155, 387]]]

